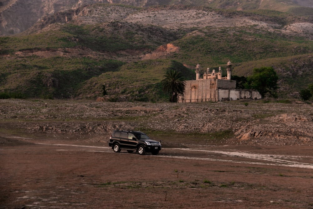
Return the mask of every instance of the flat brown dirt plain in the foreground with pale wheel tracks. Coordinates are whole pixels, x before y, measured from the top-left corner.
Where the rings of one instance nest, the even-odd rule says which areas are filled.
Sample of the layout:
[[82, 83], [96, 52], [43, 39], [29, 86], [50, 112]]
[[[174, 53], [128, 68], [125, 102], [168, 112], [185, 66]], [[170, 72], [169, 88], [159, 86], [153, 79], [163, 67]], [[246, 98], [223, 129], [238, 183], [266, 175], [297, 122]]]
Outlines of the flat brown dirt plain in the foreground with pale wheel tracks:
[[311, 146], [183, 144], [142, 156], [61, 134], [1, 139], [0, 208], [313, 208]]

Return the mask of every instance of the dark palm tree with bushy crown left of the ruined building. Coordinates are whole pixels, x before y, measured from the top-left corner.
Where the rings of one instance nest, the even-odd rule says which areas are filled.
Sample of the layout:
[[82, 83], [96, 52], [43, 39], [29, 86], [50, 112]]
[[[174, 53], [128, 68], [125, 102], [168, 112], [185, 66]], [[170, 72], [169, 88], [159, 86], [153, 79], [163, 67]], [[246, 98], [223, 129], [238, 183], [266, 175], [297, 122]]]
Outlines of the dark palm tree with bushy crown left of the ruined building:
[[161, 81], [163, 92], [170, 95], [170, 102], [177, 102], [178, 96], [183, 96], [186, 82], [180, 72], [168, 70]]

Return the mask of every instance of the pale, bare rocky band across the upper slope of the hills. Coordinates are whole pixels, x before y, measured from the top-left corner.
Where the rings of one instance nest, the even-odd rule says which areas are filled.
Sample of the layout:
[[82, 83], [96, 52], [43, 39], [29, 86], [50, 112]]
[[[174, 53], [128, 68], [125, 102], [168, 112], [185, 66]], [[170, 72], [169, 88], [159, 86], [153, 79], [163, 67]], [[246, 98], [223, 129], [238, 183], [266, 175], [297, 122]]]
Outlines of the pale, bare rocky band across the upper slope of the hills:
[[[118, 11], [118, 14], [117, 14]], [[313, 39], [313, 23], [297, 22], [289, 25], [281, 25], [274, 20], [251, 18], [248, 16], [225, 16], [210, 11], [208, 8], [160, 7], [148, 9], [121, 8], [119, 6], [101, 7], [93, 5], [85, 7], [73, 16], [76, 24], [95, 24], [109, 21], [125, 21], [133, 24], [157, 25], [167, 29], [186, 29], [190, 27], [203, 28], [203, 26], [219, 28], [233, 26], [254, 26], [270, 32], [282, 34], [298, 34], [308, 39]], [[123, 25], [121, 24], [121, 27]], [[124, 26], [125, 27], [125, 26]], [[194, 31], [190, 35], [201, 35]], [[196, 34], [195, 34], [196, 33]]]

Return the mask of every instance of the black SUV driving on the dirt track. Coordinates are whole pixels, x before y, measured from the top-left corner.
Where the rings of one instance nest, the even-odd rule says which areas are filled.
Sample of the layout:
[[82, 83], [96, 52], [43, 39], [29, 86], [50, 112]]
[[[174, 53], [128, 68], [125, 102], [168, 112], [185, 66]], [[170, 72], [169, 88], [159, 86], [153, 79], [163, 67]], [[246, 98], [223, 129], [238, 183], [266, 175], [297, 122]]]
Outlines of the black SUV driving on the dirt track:
[[120, 152], [121, 149], [126, 149], [127, 152], [132, 153], [136, 150], [138, 154], [159, 154], [161, 150], [161, 142], [150, 139], [145, 133], [141, 131], [121, 131], [115, 130], [110, 136], [109, 146], [114, 152]]

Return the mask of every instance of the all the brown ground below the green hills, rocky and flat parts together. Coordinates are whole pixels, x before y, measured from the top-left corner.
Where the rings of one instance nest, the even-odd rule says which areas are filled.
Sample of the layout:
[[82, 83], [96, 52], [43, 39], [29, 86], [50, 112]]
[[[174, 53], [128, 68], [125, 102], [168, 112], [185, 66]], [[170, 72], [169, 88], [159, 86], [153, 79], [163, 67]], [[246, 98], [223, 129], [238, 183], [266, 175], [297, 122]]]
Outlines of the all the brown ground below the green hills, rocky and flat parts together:
[[[313, 208], [312, 110], [0, 100], [0, 209]], [[113, 130], [141, 128], [159, 155], [108, 147]]]

